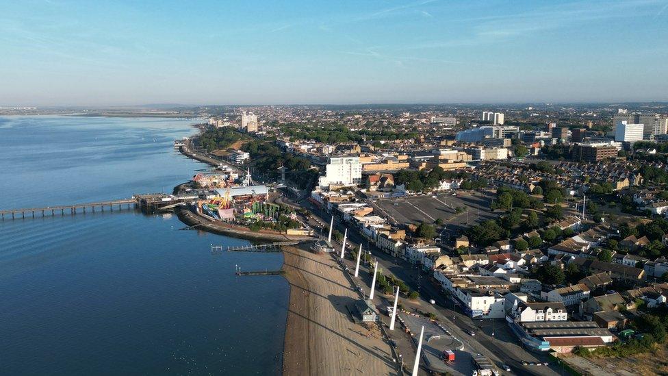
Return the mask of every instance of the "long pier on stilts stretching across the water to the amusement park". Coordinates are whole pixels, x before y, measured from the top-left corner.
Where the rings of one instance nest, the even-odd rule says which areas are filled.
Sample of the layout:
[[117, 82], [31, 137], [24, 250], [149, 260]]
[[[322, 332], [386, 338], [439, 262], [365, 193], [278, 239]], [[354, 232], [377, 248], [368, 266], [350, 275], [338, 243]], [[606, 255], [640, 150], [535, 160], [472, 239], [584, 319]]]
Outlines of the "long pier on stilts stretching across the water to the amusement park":
[[142, 212], [151, 213], [157, 210], [175, 208], [178, 205], [183, 205], [186, 201], [194, 200], [196, 198], [197, 197], [194, 195], [173, 196], [164, 193], [149, 193], [134, 195], [129, 199], [45, 206], [43, 208], [0, 210], [0, 220], [4, 221], [5, 218], [18, 219], [26, 217], [35, 218], [36, 216], [55, 216], [56, 214], [60, 214], [61, 216], [64, 216], [65, 214], [74, 215], [77, 213], [86, 213], [86, 210], [93, 213], [96, 210], [104, 212], [105, 209], [113, 212], [114, 208], [116, 208], [116, 210], [139, 208]]

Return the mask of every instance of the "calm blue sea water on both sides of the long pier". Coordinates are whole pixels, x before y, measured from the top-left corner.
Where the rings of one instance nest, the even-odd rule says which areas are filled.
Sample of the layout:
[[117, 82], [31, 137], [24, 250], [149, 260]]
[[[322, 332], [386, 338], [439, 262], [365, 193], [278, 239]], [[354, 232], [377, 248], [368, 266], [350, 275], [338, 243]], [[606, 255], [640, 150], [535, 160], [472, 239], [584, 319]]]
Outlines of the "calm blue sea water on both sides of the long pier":
[[[192, 121], [0, 117], [0, 208], [171, 192], [205, 165], [172, 141]], [[289, 288], [279, 254], [176, 216], [87, 212], [0, 223], [0, 373], [279, 374]]]

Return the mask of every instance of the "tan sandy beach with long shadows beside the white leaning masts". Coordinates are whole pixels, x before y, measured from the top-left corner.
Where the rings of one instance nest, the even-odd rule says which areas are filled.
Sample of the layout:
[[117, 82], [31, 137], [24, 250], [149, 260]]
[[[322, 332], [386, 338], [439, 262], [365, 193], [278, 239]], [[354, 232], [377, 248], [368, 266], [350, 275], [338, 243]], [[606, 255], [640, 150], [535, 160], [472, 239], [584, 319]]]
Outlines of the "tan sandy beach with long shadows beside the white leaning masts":
[[290, 283], [284, 375], [396, 375], [391, 350], [376, 330], [352, 322], [358, 298], [330, 255], [283, 247]]

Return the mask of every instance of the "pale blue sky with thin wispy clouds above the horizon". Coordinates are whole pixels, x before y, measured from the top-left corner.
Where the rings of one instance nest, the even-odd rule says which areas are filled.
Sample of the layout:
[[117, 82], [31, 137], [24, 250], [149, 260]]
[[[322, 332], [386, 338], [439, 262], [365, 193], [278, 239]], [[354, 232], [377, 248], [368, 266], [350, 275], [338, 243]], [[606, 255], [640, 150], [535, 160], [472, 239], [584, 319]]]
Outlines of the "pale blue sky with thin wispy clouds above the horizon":
[[0, 0], [0, 105], [668, 101], [668, 0]]

